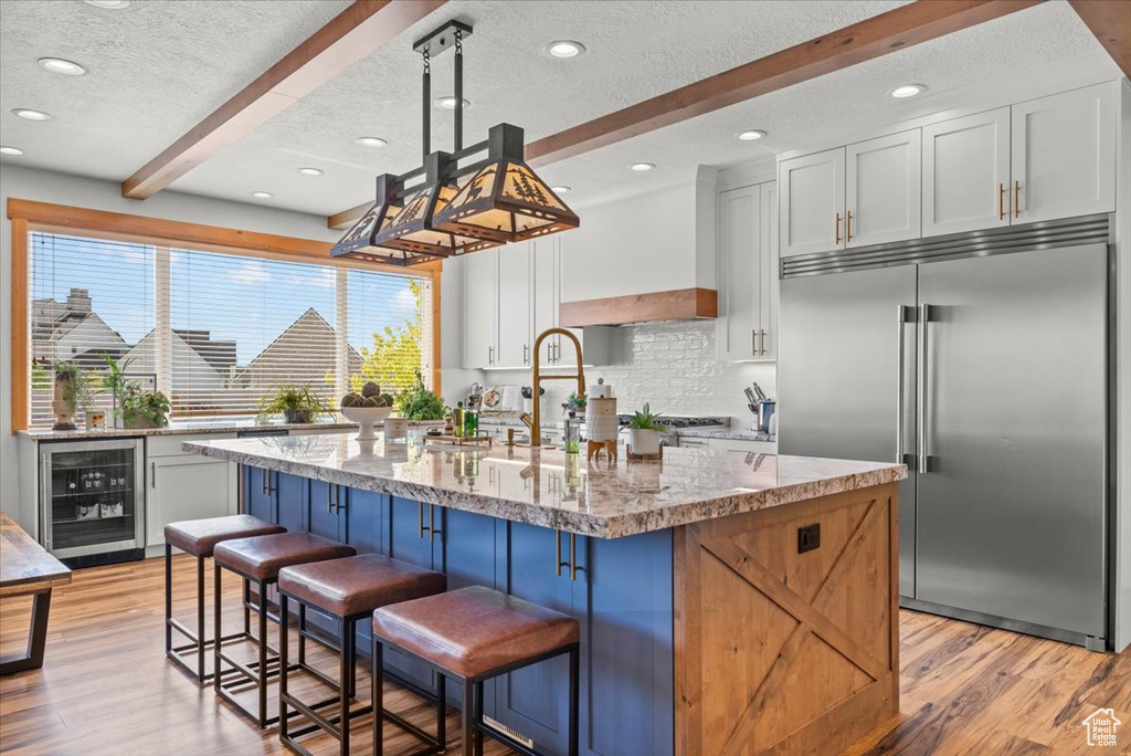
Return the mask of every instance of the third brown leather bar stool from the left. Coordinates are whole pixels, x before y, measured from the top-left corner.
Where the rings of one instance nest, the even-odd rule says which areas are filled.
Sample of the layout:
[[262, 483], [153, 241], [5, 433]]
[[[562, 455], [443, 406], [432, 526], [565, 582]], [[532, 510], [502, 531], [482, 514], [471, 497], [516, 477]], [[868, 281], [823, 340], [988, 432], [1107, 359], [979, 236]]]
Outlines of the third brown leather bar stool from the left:
[[[443, 593], [447, 586], [448, 578], [443, 573], [390, 559], [380, 553], [295, 565], [280, 569], [278, 575], [279, 626], [287, 626], [287, 607], [291, 600], [296, 601], [300, 607], [320, 609], [340, 622], [339, 645], [342, 654], [337, 686], [338, 696], [336, 699], [331, 699], [333, 703], [338, 704], [338, 711], [331, 718], [323, 716], [314, 711], [322, 704], [311, 705], [299, 701], [287, 688], [290, 667], [287, 637], [285, 633], [280, 636], [279, 739], [300, 754], [310, 756], [310, 751], [295, 739], [321, 729], [337, 738], [338, 753], [346, 756], [349, 753], [349, 720], [373, 711], [372, 706], [362, 706], [351, 711], [349, 699], [354, 694], [355, 680], [354, 662], [357, 655], [357, 622], [370, 617], [374, 609]], [[313, 723], [291, 732], [287, 723], [291, 707], [297, 710]], [[396, 715], [387, 714], [386, 716], [424, 739], [437, 750], [443, 750], [442, 722], [444, 713], [443, 695], [441, 694], [438, 696], [437, 712], [441, 722], [439, 738], [432, 738], [424, 730]]]

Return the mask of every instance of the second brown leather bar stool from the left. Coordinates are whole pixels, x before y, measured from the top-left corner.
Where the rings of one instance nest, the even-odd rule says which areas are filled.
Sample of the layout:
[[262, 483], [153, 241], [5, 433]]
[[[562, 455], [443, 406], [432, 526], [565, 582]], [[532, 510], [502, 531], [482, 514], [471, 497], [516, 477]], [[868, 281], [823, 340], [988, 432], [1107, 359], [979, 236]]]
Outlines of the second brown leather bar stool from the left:
[[[268, 678], [271, 677], [271, 672], [268, 669], [269, 660], [267, 656], [267, 652], [269, 650], [267, 642], [267, 587], [269, 585], [274, 585], [278, 581], [279, 570], [284, 567], [302, 565], [310, 561], [340, 559], [342, 557], [352, 557], [355, 553], [357, 553], [357, 551], [353, 547], [344, 545], [318, 535], [311, 535], [310, 533], [277, 533], [274, 535], [257, 535], [254, 538], [234, 539], [217, 544], [213, 550], [213, 564], [216, 582], [214, 598], [215, 615], [213, 617], [213, 620], [216, 624], [214, 633], [216, 642], [213, 644], [213, 656], [215, 659], [215, 676], [213, 677], [213, 686], [218, 696], [234, 705], [236, 711], [242, 712], [254, 720], [260, 728], [265, 728], [268, 724], [273, 724], [278, 721], [278, 715], [269, 719], [267, 716], [267, 682]], [[257, 607], [259, 613], [259, 633], [258, 641], [256, 642], [256, 645], [258, 646], [258, 660], [251, 664], [241, 664], [231, 656], [225, 655], [223, 651], [223, 608], [221, 605], [223, 591], [221, 583], [223, 570], [225, 569], [235, 573], [245, 581], [253, 582], [259, 593], [259, 602]], [[286, 627], [280, 626], [279, 633], [280, 636], [285, 637]], [[254, 638], [252, 639], [254, 641]], [[270, 661], [277, 662], [278, 658], [276, 656]], [[223, 664], [225, 662], [231, 669], [224, 669]], [[304, 662], [305, 660], [300, 658], [300, 664], [302, 664], [304, 669], [313, 675], [322, 677], [328, 684], [333, 685], [333, 680], [322, 676], [318, 670], [305, 667]], [[222, 685], [221, 677], [233, 670], [236, 672], [238, 681], [225, 682]], [[254, 713], [244, 708], [244, 706], [236, 701], [234, 695], [228, 690], [228, 688], [247, 684], [254, 685], [259, 693], [258, 711]]]

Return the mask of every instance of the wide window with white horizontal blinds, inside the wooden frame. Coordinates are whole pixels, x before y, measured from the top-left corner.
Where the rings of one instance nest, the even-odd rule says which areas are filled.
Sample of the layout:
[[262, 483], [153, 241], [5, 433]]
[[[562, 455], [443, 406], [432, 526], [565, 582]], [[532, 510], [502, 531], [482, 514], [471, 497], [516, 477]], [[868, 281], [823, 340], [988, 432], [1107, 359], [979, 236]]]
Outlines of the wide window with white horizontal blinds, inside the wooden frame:
[[370, 380], [430, 383], [429, 278], [50, 233], [29, 254], [33, 427], [52, 422], [55, 364], [97, 385], [107, 356], [174, 418], [256, 413], [282, 384], [336, 406]]

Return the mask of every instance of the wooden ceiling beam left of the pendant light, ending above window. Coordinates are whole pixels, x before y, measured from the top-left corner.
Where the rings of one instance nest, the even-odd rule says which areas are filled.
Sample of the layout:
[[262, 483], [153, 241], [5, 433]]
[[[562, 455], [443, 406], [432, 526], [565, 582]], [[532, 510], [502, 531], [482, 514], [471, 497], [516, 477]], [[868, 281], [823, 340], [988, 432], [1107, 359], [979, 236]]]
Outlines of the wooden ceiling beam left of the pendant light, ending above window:
[[122, 182], [146, 199], [267, 122], [447, 0], [355, 0]]

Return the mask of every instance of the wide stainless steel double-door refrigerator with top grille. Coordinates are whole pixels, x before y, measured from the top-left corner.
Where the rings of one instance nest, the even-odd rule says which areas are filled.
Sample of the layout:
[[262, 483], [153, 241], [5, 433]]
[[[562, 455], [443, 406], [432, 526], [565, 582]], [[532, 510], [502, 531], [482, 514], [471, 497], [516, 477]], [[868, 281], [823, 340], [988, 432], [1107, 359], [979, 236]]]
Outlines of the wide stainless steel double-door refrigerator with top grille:
[[906, 462], [905, 605], [1104, 648], [1107, 225], [783, 260], [779, 450]]

